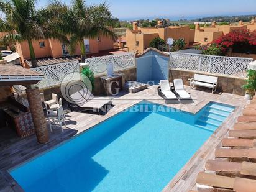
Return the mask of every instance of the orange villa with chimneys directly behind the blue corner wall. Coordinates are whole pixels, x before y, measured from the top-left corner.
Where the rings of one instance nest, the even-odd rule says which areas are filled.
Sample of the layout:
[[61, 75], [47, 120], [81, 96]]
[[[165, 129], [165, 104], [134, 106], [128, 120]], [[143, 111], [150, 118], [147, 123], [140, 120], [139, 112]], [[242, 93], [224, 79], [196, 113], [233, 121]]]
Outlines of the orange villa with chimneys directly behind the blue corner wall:
[[185, 48], [188, 48], [190, 43], [194, 42], [194, 30], [188, 26], [163, 27], [162, 21], [158, 21], [157, 27], [138, 27], [137, 22], [134, 22], [133, 29], [126, 30], [126, 44], [129, 51], [143, 52], [149, 48], [149, 43], [156, 37], [160, 37], [165, 42], [167, 42], [168, 37], [183, 38], [186, 43]]

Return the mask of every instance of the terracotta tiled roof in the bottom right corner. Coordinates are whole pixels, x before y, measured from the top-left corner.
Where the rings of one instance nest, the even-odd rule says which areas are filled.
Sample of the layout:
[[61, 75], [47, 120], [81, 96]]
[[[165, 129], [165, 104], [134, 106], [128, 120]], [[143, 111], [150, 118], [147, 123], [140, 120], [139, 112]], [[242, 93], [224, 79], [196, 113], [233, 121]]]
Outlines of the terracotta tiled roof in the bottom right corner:
[[204, 171], [198, 173], [198, 191], [256, 191], [255, 109], [256, 96], [216, 148], [215, 159], [208, 160]]

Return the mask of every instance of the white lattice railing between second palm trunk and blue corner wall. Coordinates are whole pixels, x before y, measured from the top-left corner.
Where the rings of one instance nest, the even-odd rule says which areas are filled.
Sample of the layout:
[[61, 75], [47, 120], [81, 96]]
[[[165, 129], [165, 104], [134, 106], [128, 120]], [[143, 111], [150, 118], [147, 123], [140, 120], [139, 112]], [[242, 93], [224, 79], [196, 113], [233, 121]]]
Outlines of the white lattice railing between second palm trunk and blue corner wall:
[[114, 64], [114, 71], [124, 70], [135, 66], [135, 53], [87, 58], [85, 63], [89, 65], [94, 75], [102, 75], [106, 74], [107, 63]]

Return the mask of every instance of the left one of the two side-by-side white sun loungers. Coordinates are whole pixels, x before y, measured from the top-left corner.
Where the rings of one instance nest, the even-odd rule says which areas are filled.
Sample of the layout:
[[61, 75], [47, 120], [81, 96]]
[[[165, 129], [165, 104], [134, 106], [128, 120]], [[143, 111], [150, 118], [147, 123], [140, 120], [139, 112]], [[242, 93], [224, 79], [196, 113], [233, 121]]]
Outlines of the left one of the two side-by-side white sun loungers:
[[160, 87], [158, 87], [158, 95], [165, 99], [166, 104], [179, 103], [176, 95], [171, 91], [168, 80], [160, 80]]

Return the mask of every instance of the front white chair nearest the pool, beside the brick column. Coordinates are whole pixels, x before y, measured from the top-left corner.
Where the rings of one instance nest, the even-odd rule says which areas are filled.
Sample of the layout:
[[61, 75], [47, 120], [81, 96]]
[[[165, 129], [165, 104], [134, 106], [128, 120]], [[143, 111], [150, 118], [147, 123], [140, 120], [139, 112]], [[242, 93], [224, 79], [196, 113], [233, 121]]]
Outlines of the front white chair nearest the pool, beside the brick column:
[[[56, 111], [51, 111], [50, 114], [48, 114], [48, 121], [49, 121], [49, 124], [50, 124], [50, 130], [52, 131], [52, 123], [50, 121], [50, 118], [52, 118], [54, 126], [56, 126], [59, 122], [60, 128], [62, 129], [62, 122], [61, 121], [63, 121], [63, 123], [66, 127], [66, 119], [65, 119], [65, 114], [64, 114], [62, 106], [59, 106]], [[55, 122], [57, 122], [57, 124], [55, 124]], [[62, 132], [63, 132], [63, 129], [62, 129]]]

